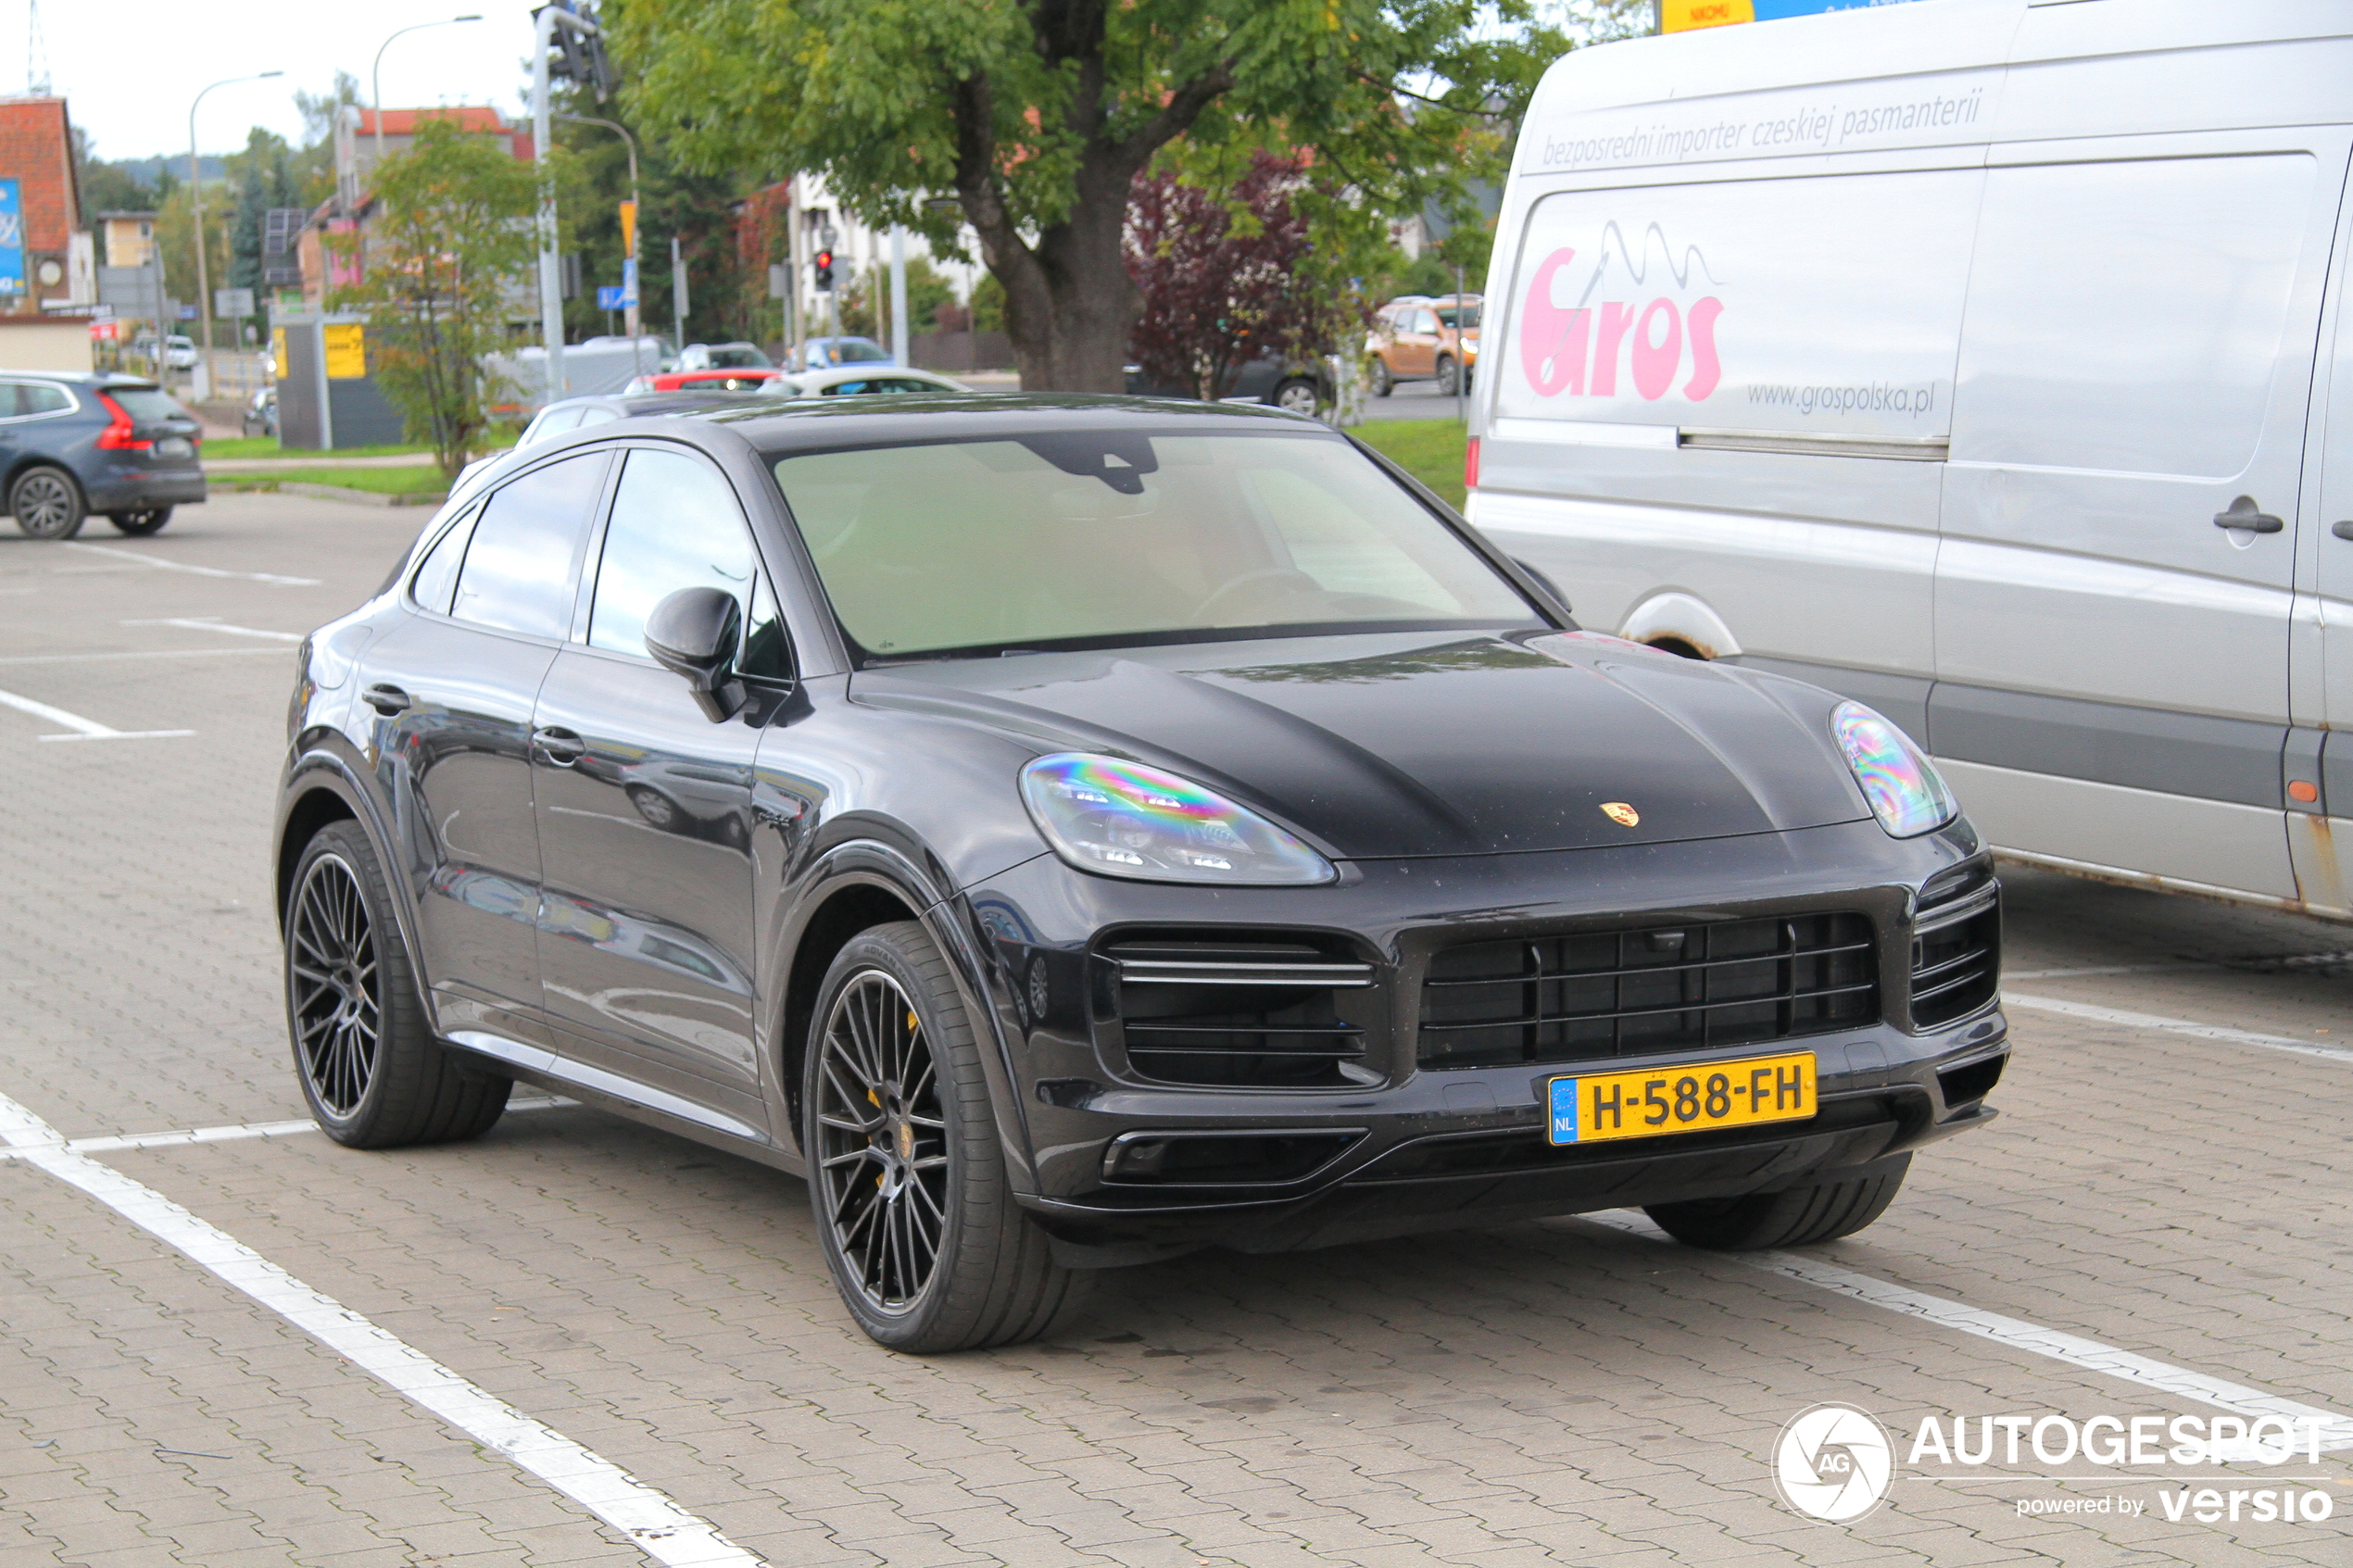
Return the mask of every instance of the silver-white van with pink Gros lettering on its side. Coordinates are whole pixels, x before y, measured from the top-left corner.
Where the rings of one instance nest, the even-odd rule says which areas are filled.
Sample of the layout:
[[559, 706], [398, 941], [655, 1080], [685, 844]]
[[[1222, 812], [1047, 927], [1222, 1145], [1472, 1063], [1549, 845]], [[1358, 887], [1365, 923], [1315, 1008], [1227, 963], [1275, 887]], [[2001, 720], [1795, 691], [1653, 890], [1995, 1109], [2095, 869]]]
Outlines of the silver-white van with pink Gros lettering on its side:
[[1880, 708], [2021, 860], [2353, 917], [2348, 148], [2346, 0], [1569, 54], [1471, 517], [1595, 630]]

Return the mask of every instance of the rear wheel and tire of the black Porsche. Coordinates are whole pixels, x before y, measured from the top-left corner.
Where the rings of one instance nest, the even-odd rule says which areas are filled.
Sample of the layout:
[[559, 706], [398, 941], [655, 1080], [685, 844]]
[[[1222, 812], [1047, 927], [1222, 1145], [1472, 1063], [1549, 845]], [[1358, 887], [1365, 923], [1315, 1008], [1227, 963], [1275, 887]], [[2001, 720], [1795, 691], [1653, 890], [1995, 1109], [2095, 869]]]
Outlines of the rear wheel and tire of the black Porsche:
[[294, 1081], [336, 1143], [456, 1143], [480, 1138], [506, 1110], [513, 1079], [433, 1039], [391, 891], [358, 823], [329, 823], [294, 865], [285, 992]]

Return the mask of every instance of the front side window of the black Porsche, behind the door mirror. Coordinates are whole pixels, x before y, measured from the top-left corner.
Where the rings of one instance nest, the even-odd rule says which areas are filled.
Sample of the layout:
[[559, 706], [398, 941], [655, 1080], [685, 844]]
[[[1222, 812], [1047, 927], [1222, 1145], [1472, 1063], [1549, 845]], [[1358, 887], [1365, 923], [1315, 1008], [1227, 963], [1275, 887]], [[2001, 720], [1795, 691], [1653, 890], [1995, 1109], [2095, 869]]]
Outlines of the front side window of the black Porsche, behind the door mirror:
[[734, 489], [682, 451], [624, 458], [588, 611], [588, 646], [645, 658], [645, 618], [680, 588], [722, 588], [751, 618], [751, 529]]

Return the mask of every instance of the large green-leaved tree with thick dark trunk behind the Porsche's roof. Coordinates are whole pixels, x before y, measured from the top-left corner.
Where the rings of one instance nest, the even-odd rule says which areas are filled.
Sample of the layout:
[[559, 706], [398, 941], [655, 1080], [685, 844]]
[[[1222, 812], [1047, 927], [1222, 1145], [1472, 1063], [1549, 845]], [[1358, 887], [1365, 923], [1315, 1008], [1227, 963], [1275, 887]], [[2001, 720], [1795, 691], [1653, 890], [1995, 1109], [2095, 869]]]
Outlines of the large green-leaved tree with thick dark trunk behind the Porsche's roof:
[[[1532, 0], [609, 0], [701, 167], [824, 172], [1005, 287], [1021, 383], [1118, 390], [1134, 179], [1174, 141], [1306, 153], [1372, 212], [1461, 209], [1569, 47]], [[936, 207], [934, 207], [936, 202]]]

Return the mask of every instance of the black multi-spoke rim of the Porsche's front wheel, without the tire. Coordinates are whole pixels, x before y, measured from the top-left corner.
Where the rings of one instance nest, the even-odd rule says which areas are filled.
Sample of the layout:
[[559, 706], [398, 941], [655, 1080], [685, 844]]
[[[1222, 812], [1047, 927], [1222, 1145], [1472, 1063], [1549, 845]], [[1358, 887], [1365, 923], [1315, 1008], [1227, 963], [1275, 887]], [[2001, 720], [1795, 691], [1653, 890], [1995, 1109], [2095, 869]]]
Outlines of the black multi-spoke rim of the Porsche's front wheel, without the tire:
[[911, 1309], [948, 1227], [948, 1124], [932, 1041], [882, 969], [852, 976], [826, 1018], [816, 1168], [847, 1284], [878, 1312]]

